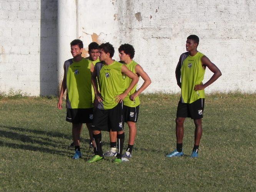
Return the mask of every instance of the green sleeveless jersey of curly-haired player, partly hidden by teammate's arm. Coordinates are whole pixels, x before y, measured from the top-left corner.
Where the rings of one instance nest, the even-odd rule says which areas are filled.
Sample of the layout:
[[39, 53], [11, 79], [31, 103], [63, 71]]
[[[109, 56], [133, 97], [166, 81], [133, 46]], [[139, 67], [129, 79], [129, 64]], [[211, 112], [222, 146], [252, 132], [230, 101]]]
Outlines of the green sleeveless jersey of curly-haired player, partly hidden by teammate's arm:
[[[126, 66], [130, 71], [132, 71], [133, 73], [135, 73], [135, 66], [136, 66], [136, 65], [138, 65], [138, 63], [136, 63], [135, 61], [132, 60], [131, 63], [128, 63], [128, 64], [126, 64], [125, 66]], [[132, 79], [126, 77], [125, 74], [123, 74], [123, 77], [125, 78], [125, 88], [127, 89], [127, 88], [130, 86]], [[123, 99], [123, 104], [124, 104], [125, 106], [128, 106], [128, 107], [136, 107], [136, 106], [138, 106], [138, 105], [140, 104], [140, 98], [139, 98], [139, 96], [137, 96], [137, 97], [135, 98], [135, 101], [131, 101], [131, 99], [130, 99], [130, 96], [131, 96], [133, 93], [136, 92], [137, 84], [138, 84], [138, 83], [136, 83], [136, 85], [131, 89], [130, 93], [128, 93], [128, 95]]]

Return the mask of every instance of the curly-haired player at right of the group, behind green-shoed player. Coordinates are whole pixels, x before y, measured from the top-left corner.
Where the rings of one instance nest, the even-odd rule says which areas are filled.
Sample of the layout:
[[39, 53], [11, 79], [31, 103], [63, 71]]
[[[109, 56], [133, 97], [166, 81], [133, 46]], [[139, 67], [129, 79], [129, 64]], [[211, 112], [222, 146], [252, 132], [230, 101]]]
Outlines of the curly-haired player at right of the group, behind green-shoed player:
[[[140, 98], [139, 94], [144, 91], [151, 83], [151, 79], [148, 74], [143, 70], [143, 68], [138, 65], [133, 60], [135, 50], [132, 45], [123, 44], [118, 48], [120, 62], [124, 63], [125, 66], [133, 71], [138, 77], [144, 80], [142, 86], [136, 91], [137, 84], [134, 86], [133, 89], [127, 94], [127, 96], [123, 99], [124, 105], [124, 118], [125, 122], [128, 124], [129, 127], [129, 141], [128, 147], [126, 148], [125, 153], [122, 156], [123, 161], [129, 161], [128, 159], [132, 156], [131, 152], [133, 150], [133, 145], [135, 142], [136, 137], [136, 122], [138, 121], [139, 115], [139, 107], [140, 107]], [[128, 87], [131, 83], [131, 79], [126, 77], [125, 78], [125, 85]], [[115, 156], [116, 155], [116, 135], [115, 132], [110, 131], [110, 151], [106, 152], [104, 156]]]

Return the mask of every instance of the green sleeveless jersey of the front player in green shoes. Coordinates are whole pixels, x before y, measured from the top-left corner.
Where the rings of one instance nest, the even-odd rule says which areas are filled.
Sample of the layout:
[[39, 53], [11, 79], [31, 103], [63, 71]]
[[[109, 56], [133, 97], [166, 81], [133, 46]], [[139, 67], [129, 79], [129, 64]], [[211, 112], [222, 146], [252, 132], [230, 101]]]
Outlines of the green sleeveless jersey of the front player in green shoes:
[[100, 86], [100, 94], [103, 102], [99, 103], [99, 109], [112, 109], [118, 103], [115, 101], [115, 96], [122, 94], [125, 91], [125, 79], [121, 73], [122, 63], [114, 61], [111, 65], [96, 63], [95, 70]]

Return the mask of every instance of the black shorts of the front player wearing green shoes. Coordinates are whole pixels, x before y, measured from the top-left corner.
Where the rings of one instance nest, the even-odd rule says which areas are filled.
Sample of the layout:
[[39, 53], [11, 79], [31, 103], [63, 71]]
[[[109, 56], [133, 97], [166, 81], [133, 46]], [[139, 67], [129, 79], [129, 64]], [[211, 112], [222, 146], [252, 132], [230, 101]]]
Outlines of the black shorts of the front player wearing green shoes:
[[123, 102], [112, 109], [98, 109], [94, 111], [91, 128], [98, 131], [123, 131]]

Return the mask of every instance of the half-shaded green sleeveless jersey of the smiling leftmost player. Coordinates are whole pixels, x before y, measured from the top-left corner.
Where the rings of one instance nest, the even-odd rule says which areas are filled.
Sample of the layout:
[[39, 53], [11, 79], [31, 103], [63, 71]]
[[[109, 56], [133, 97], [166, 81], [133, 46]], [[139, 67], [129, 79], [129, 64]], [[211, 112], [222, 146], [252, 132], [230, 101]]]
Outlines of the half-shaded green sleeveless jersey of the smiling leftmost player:
[[66, 108], [93, 108], [91, 92], [90, 61], [83, 58], [79, 62], [73, 59], [64, 63], [66, 70]]

